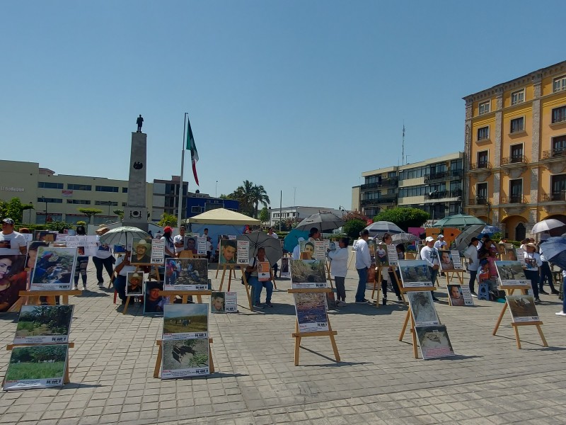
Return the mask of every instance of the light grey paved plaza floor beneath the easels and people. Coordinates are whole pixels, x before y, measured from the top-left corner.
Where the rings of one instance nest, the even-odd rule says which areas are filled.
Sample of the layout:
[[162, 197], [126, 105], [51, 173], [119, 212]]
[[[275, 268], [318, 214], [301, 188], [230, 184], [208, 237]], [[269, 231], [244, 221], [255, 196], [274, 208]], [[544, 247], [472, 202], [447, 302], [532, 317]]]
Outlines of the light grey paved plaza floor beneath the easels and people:
[[[216, 264], [212, 266], [216, 267]], [[211, 266], [211, 267], [212, 267]], [[212, 277], [213, 288], [220, 280]], [[219, 277], [221, 273], [219, 274]], [[442, 285], [444, 285], [444, 279]], [[467, 283], [467, 276], [466, 276]], [[226, 282], [225, 282], [226, 285]], [[561, 302], [541, 295], [537, 306], [549, 348], [535, 327], [521, 328], [516, 348], [502, 304], [475, 301], [450, 307], [437, 291], [437, 312], [456, 351], [453, 358], [412, 356], [410, 334], [398, 341], [407, 307], [354, 304], [357, 273], [346, 279], [345, 307], [330, 312], [342, 361], [328, 336], [303, 339], [293, 362], [294, 306], [289, 280], [277, 280], [275, 307], [250, 312], [238, 280], [237, 314], [211, 314], [216, 373], [207, 378], [153, 378], [163, 319], [112, 303], [113, 290], [96, 285], [71, 297], [71, 383], [61, 389], [0, 393], [2, 424], [564, 424], [566, 321]], [[226, 290], [226, 286], [224, 287]], [[366, 297], [371, 291], [366, 292]], [[395, 296], [393, 295], [393, 298]], [[265, 301], [265, 293], [262, 293]], [[1, 344], [13, 340], [18, 316], [0, 316]], [[6, 373], [9, 352], [0, 357]]]

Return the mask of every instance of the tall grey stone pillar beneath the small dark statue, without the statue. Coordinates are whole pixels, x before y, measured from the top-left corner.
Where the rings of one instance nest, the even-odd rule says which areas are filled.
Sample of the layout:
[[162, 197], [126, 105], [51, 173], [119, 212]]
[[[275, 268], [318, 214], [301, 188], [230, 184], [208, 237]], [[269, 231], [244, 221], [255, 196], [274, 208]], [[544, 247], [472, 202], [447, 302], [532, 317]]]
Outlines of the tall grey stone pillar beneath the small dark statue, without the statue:
[[138, 227], [147, 232], [146, 204], [147, 135], [132, 132], [132, 150], [129, 154], [128, 200], [124, 208], [123, 225]]

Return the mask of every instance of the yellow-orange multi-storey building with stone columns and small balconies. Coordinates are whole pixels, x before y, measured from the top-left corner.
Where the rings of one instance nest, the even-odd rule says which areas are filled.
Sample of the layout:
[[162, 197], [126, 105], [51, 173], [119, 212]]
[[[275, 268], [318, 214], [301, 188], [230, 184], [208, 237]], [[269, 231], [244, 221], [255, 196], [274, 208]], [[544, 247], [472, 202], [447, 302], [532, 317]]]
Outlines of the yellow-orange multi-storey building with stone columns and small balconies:
[[463, 99], [468, 213], [515, 240], [566, 223], [566, 61]]

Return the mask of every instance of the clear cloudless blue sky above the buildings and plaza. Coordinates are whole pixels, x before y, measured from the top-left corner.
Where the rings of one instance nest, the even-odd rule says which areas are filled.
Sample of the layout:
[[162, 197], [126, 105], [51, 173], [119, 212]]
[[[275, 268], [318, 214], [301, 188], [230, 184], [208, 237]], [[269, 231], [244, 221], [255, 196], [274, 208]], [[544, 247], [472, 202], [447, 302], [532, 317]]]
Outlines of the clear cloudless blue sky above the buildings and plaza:
[[[362, 171], [463, 149], [463, 96], [565, 60], [560, 1], [4, 2], [2, 159], [127, 179], [245, 179], [279, 207], [350, 209]], [[559, 32], [560, 31], [560, 32]], [[11, 146], [11, 149], [6, 147]], [[185, 157], [188, 157], [186, 155]], [[197, 187], [185, 158], [185, 180]]]

